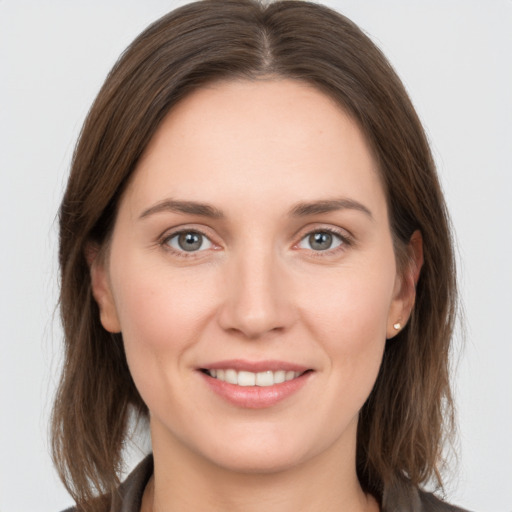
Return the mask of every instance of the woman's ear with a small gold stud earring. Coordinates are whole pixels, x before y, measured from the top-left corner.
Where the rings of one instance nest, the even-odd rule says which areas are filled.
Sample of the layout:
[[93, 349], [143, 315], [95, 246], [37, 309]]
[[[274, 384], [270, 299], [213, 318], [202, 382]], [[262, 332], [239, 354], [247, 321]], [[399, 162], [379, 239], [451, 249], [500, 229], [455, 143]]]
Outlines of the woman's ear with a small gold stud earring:
[[387, 339], [396, 336], [405, 326], [411, 315], [416, 300], [416, 284], [423, 266], [423, 237], [416, 230], [407, 246], [407, 262], [402, 272], [397, 275], [393, 302], [389, 308]]

